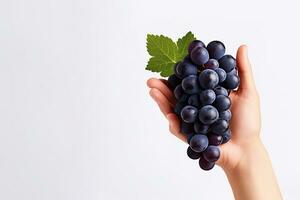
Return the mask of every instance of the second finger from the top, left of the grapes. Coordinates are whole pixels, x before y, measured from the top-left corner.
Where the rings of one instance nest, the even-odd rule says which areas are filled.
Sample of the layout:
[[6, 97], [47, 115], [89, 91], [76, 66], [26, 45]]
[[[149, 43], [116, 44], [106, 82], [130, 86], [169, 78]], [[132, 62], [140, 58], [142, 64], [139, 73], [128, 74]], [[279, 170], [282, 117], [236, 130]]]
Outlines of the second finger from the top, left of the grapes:
[[150, 96], [154, 99], [157, 103], [161, 112], [167, 117], [168, 114], [173, 113], [172, 107], [168, 99], [162, 92], [156, 88], [152, 88], [149, 92]]

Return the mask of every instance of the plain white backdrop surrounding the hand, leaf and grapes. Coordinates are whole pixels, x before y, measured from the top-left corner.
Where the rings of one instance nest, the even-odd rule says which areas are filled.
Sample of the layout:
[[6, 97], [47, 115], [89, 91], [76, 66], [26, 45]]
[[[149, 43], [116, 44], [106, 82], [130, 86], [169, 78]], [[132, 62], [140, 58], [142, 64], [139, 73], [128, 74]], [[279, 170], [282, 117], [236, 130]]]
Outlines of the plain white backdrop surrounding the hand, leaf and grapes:
[[[296, 2], [296, 1], [295, 1]], [[262, 139], [299, 199], [299, 6], [275, 1], [1, 0], [0, 199], [232, 199], [148, 96], [146, 34], [242, 43]], [[233, 155], [234, 156], [234, 155]], [[251, 185], [249, 185], [251, 187]]]

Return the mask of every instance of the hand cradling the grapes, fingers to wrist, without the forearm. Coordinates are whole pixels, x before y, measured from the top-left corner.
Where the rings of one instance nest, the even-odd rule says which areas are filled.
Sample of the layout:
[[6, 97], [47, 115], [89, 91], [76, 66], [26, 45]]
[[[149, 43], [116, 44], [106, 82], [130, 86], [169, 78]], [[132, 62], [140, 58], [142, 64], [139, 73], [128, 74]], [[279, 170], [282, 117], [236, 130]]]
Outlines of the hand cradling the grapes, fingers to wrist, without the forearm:
[[[248, 146], [259, 141], [260, 109], [259, 97], [255, 88], [247, 47], [241, 46], [237, 51], [237, 67], [240, 76], [240, 86], [230, 93], [232, 101], [230, 129], [231, 140], [220, 146], [221, 157], [217, 164], [222, 168], [235, 168], [247, 153]], [[151, 97], [169, 121], [170, 132], [186, 142], [186, 137], [180, 133], [180, 121], [173, 113], [175, 98], [167, 87], [165, 80], [150, 78], [147, 82]], [[234, 156], [232, 156], [234, 155]]]

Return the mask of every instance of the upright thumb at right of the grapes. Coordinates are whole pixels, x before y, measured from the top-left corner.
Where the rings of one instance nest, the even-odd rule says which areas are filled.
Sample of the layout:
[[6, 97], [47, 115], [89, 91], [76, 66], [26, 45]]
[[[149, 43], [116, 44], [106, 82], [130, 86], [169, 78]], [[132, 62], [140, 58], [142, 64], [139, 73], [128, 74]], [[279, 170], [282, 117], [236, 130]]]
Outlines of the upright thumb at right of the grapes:
[[246, 45], [239, 47], [237, 51], [237, 67], [240, 76], [239, 92], [249, 92], [255, 90], [253, 74], [250, 61], [248, 59], [248, 50]]

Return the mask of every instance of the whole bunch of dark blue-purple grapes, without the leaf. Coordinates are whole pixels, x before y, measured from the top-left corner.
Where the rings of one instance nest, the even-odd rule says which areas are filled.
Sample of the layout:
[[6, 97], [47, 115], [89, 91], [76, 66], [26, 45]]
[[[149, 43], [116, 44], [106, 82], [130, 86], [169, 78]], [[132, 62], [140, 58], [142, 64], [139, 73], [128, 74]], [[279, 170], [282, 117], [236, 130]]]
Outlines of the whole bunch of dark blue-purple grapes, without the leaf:
[[212, 41], [207, 46], [194, 40], [188, 55], [174, 65], [168, 86], [177, 99], [174, 112], [186, 134], [187, 155], [199, 159], [203, 170], [210, 170], [220, 157], [221, 144], [231, 138], [229, 93], [240, 82], [236, 60], [225, 55], [225, 46]]

